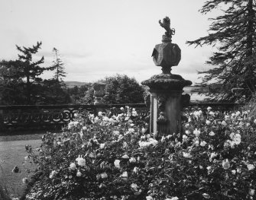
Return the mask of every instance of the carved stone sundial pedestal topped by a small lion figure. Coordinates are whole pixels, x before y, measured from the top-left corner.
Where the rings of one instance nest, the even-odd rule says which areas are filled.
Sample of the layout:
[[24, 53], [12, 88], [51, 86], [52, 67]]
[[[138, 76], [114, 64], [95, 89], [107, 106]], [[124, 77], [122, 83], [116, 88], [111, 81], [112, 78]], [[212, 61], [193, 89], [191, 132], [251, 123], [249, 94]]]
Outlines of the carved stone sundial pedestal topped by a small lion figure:
[[172, 43], [174, 29], [170, 29], [170, 19], [165, 17], [161, 27], [167, 32], [162, 43], [154, 47], [152, 56], [154, 64], [162, 67], [160, 75], [154, 75], [141, 84], [150, 87], [151, 92], [151, 125], [150, 132], [160, 138], [162, 135], [173, 135], [180, 132], [181, 121], [181, 94], [183, 87], [192, 82], [183, 79], [180, 75], [170, 73], [173, 66], [180, 62], [181, 51], [177, 44]]

